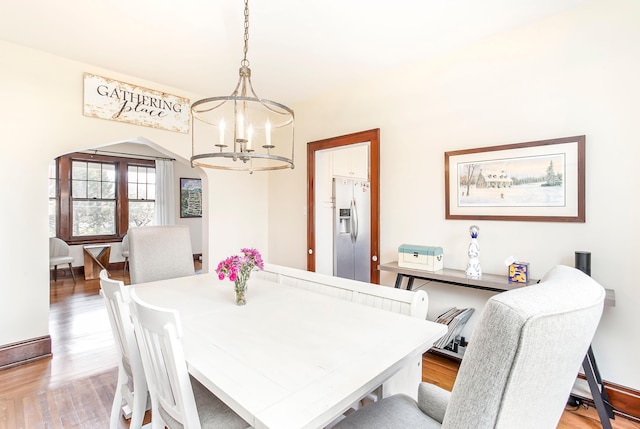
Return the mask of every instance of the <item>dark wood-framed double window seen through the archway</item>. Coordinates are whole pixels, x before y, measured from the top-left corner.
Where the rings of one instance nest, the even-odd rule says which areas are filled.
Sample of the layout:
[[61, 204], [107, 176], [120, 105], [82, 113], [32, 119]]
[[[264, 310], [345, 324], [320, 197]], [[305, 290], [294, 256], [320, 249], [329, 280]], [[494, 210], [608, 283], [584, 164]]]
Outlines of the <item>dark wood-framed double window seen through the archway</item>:
[[60, 180], [54, 177], [52, 191], [50, 179], [49, 222], [65, 241], [118, 241], [130, 226], [153, 222], [153, 160], [73, 153], [58, 158], [53, 172]]

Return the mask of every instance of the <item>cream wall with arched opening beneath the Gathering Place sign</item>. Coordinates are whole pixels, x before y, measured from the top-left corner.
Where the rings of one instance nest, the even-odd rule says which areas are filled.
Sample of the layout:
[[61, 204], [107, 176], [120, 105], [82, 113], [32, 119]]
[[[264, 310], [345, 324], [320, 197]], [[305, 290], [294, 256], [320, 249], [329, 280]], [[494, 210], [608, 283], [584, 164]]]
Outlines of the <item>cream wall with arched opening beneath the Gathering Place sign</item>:
[[[191, 137], [82, 115], [83, 72], [195, 100], [194, 94], [0, 41], [0, 345], [47, 335], [49, 312], [48, 175], [64, 153], [144, 141], [181, 159]], [[204, 270], [241, 247], [268, 257], [267, 184], [262, 174], [206, 171], [202, 222]]]

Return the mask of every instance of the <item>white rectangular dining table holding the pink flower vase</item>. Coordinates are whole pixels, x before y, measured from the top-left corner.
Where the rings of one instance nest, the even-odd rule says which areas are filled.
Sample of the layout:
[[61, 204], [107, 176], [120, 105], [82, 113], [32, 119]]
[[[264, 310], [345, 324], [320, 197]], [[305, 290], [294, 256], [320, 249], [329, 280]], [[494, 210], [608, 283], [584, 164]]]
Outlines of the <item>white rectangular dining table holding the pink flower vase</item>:
[[178, 310], [191, 375], [258, 429], [325, 427], [446, 333], [442, 324], [265, 279], [250, 280], [244, 306], [215, 274], [133, 287], [142, 300]]

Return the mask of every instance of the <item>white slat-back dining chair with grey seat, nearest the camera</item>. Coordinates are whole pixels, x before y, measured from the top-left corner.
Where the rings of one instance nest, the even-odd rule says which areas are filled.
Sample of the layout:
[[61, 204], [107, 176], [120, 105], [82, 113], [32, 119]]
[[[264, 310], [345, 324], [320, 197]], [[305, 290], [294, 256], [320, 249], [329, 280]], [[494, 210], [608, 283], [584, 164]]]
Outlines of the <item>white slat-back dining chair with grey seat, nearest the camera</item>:
[[251, 427], [189, 376], [176, 310], [152, 306], [131, 291], [138, 347], [151, 393], [152, 428], [245, 429]]

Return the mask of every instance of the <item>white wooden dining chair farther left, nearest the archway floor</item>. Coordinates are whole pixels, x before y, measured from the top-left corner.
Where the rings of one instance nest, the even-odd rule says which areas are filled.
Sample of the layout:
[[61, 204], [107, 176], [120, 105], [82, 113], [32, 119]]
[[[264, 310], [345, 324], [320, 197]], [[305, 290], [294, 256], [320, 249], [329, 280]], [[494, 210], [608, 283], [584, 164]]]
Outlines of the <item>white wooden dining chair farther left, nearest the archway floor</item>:
[[148, 409], [149, 391], [145, 379], [142, 359], [131, 320], [129, 286], [122, 281], [112, 280], [106, 270], [100, 272], [100, 295], [104, 298], [120, 359], [118, 362], [118, 383], [111, 407], [109, 427], [117, 429], [120, 415], [131, 418], [130, 429], [142, 427], [145, 411]]

